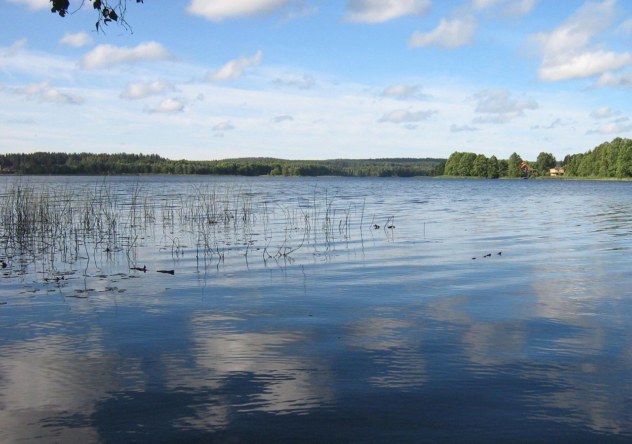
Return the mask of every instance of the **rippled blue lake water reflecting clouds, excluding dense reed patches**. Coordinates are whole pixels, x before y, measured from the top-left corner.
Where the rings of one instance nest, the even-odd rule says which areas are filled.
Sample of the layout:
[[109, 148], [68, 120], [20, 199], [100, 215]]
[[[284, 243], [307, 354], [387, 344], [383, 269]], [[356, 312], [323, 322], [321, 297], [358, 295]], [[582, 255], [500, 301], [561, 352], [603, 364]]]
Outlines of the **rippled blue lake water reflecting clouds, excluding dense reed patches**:
[[15, 183], [152, 214], [0, 252], [0, 441], [632, 440], [632, 182]]

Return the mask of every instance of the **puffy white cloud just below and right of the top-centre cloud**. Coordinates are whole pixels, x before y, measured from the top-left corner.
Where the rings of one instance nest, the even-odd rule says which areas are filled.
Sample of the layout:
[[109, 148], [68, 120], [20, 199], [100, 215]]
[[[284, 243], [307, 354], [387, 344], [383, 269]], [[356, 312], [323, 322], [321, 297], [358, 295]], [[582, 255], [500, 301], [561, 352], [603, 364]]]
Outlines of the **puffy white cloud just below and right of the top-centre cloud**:
[[430, 32], [415, 31], [408, 40], [408, 46], [435, 46], [444, 49], [454, 49], [463, 45], [470, 45], [478, 22], [473, 17], [441, 19], [439, 26]]

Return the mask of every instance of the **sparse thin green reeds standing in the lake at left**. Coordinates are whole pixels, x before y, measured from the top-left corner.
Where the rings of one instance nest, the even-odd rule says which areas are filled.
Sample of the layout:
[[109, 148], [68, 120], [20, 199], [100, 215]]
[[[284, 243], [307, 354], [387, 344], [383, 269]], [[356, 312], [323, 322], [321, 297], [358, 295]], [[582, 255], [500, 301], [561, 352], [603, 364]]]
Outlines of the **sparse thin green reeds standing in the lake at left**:
[[4, 254], [51, 266], [97, 253], [124, 254], [135, 265], [143, 237], [159, 231], [172, 254], [195, 248], [204, 263], [223, 261], [229, 251], [246, 261], [255, 251], [263, 260], [288, 258], [308, 243], [328, 250], [337, 239], [348, 241], [364, 215], [364, 202], [339, 205], [316, 190], [286, 204], [210, 185], [155, 196], [138, 186], [123, 193], [107, 184], [77, 190], [18, 182], [0, 194]]

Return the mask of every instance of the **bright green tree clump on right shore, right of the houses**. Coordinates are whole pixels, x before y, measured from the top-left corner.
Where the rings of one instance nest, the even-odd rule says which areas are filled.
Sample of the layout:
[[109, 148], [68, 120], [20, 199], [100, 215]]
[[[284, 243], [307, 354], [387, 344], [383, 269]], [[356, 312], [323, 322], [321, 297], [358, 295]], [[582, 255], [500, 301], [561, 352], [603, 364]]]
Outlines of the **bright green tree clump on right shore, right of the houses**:
[[617, 137], [586, 153], [564, 157], [569, 176], [632, 177], [632, 140]]

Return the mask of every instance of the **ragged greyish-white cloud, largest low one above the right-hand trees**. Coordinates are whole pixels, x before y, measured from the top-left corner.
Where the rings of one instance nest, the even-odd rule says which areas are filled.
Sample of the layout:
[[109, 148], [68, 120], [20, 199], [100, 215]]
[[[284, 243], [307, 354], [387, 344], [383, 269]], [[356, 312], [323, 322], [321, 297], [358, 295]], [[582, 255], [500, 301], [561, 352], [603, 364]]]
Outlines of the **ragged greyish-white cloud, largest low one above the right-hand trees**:
[[472, 123], [508, 123], [516, 117], [525, 115], [525, 109], [537, 109], [533, 99], [518, 100], [511, 97], [508, 90], [497, 88], [477, 92], [470, 97], [477, 102], [476, 112], [485, 116], [476, 117]]

